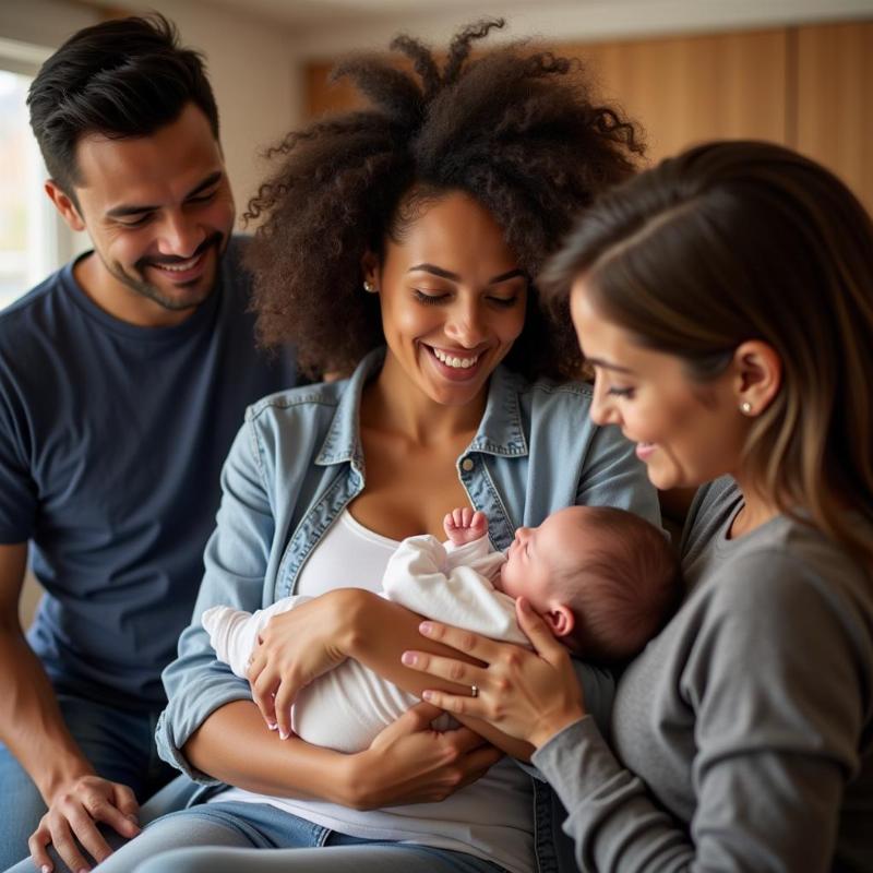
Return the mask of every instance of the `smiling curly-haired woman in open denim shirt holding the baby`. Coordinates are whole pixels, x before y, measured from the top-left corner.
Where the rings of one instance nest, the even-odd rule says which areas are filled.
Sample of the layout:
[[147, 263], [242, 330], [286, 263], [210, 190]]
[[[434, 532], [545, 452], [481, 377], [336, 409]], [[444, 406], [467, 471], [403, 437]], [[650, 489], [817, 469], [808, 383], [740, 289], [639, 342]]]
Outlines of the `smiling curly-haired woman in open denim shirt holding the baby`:
[[[309, 744], [291, 721], [297, 693], [346, 659], [420, 694], [400, 661], [420, 617], [380, 597], [381, 578], [398, 540], [442, 539], [452, 507], [485, 512], [500, 550], [572, 504], [658, 519], [633, 447], [590, 423], [590, 386], [571, 381], [570, 319], [549, 322], [536, 288], [573, 217], [632, 174], [641, 147], [569, 60], [518, 45], [471, 58], [500, 25], [462, 31], [442, 65], [408, 37], [393, 47], [412, 72], [343, 64], [370, 108], [275, 150], [250, 208], [264, 218], [250, 253], [261, 338], [348, 378], [249, 409], [158, 729], [162, 755], [213, 787], [101, 870], [175, 847], [188, 848], [142, 869], [572, 869], [548, 788], [513, 761], [527, 744], [465, 718], [433, 730], [427, 704], [356, 752]], [[311, 600], [270, 621], [240, 681], [199, 617], [289, 594]], [[612, 677], [577, 667], [605, 723]], [[193, 848], [215, 846], [288, 851]]]

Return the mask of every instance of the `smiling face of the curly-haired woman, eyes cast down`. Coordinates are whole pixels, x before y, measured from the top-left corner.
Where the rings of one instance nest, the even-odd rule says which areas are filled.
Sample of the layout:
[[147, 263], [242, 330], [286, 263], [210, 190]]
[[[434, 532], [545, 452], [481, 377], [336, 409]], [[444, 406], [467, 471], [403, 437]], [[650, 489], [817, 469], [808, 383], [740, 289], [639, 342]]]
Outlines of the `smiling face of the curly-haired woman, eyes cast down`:
[[379, 289], [392, 395], [481, 402], [522, 333], [527, 300], [527, 278], [491, 213], [450, 191], [387, 240], [367, 279]]

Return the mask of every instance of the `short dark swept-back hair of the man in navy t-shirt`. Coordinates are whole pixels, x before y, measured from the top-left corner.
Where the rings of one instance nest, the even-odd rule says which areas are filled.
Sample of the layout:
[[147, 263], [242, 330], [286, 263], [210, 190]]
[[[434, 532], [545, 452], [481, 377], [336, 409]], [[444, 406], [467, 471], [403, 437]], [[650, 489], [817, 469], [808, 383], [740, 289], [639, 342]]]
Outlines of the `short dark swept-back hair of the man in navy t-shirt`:
[[163, 15], [128, 17], [85, 27], [41, 67], [27, 105], [43, 159], [69, 195], [81, 182], [76, 143], [99, 133], [148, 136], [193, 103], [218, 139], [218, 109], [198, 51], [179, 46]]

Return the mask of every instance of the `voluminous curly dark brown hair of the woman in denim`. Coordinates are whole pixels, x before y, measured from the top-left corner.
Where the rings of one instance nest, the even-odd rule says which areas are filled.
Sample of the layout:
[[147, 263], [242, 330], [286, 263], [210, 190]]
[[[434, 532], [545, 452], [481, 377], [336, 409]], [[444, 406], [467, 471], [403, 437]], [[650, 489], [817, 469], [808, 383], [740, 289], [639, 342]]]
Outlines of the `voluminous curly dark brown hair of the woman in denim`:
[[[361, 291], [361, 258], [381, 256], [386, 236], [428, 202], [463, 191], [503, 228], [519, 266], [535, 277], [586, 207], [631, 176], [643, 145], [615, 108], [593, 101], [578, 62], [515, 43], [470, 59], [476, 40], [502, 27], [461, 31], [438, 64], [419, 40], [391, 48], [414, 72], [382, 56], [340, 63], [371, 106], [294, 131], [267, 155], [278, 171], [249, 204], [264, 217], [249, 251], [262, 344], [294, 342], [301, 369], [348, 372], [384, 343], [379, 298]], [[551, 322], [536, 288], [506, 363], [529, 378], [578, 373], [569, 318]]]

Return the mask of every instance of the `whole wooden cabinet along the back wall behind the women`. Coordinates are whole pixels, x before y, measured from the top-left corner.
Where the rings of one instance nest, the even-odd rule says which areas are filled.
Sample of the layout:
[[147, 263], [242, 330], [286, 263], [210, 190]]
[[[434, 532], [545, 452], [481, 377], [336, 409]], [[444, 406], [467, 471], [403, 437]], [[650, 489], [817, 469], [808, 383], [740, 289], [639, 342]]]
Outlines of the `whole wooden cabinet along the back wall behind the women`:
[[[873, 212], [873, 21], [554, 46], [637, 120], [648, 160], [713, 139], [785, 143], [840, 176]], [[358, 105], [308, 69], [312, 117]]]

